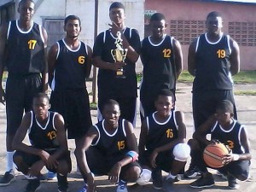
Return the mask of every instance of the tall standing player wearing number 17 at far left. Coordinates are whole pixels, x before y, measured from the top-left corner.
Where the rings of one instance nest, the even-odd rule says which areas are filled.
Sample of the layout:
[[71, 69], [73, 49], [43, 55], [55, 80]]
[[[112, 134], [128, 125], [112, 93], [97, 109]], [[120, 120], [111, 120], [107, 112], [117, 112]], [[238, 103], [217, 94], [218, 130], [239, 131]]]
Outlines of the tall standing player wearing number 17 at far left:
[[[0, 84], [0, 102], [6, 100], [6, 149], [7, 169], [0, 180], [6, 186], [15, 179], [12, 143], [24, 113], [32, 108], [32, 97], [47, 90], [46, 62], [47, 33], [32, 21], [35, 3], [21, 0], [18, 7], [19, 20], [10, 21], [0, 28], [0, 78], [7, 67], [9, 76], [5, 93]], [[42, 78], [41, 78], [42, 77]]]

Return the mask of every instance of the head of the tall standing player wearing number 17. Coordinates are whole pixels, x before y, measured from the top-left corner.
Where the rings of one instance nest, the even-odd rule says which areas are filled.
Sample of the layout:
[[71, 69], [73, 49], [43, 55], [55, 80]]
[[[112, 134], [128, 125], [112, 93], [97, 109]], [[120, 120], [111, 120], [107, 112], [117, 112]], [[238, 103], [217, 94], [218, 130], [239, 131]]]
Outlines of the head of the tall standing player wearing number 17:
[[35, 12], [35, 3], [32, 0], [21, 0], [18, 5], [20, 20], [29, 21]]

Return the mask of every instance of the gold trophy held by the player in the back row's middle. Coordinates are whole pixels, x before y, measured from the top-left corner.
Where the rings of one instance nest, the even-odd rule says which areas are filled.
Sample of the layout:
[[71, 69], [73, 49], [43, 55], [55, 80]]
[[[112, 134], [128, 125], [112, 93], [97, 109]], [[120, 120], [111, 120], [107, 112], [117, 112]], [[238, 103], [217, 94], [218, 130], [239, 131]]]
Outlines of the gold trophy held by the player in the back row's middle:
[[[113, 56], [113, 61], [115, 62], [125, 62], [128, 49], [123, 48], [122, 41], [123, 39], [121, 38], [121, 32], [117, 32], [117, 38], [114, 43], [116, 49], [111, 50], [111, 55]], [[119, 70], [116, 72], [116, 78], [125, 79], [126, 77], [124, 73], [124, 68], [119, 68]]]

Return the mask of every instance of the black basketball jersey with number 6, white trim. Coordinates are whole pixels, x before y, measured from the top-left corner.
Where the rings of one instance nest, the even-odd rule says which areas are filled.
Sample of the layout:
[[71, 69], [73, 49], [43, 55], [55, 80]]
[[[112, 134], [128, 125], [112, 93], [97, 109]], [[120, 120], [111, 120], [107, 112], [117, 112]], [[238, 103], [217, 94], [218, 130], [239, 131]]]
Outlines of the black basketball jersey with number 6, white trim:
[[57, 42], [58, 54], [55, 61], [52, 90], [75, 90], [86, 88], [87, 46], [79, 42], [79, 48], [70, 49], [64, 39]]

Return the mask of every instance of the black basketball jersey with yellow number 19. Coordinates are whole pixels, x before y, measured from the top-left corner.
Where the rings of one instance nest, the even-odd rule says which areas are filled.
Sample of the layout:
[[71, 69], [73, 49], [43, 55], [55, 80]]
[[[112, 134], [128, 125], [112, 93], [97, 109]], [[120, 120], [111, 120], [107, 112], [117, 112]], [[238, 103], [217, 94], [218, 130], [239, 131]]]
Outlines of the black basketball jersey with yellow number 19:
[[211, 43], [207, 33], [202, 34], [196, 48], [193, 90], [231, 90], [230, 36], [222, 35]]

